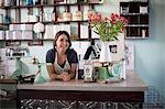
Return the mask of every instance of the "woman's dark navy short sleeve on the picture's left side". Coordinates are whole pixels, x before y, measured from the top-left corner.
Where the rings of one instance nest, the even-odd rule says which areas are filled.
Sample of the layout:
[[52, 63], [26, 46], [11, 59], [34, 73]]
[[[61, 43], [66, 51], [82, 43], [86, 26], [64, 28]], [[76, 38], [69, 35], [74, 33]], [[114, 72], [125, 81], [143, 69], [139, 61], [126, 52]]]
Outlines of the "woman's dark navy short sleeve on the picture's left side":
[[46, 63], [52, 63], [54, 64], [55, 61], [55, 51], [54, 50], [50, 50], [46, 53]]

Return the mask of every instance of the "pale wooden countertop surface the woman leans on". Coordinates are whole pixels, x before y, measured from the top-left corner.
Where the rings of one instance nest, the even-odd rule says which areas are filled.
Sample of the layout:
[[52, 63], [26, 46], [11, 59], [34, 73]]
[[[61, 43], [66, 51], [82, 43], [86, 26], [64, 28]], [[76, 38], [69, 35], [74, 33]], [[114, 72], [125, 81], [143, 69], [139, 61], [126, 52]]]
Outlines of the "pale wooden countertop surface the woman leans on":
[[119, 83], [85, 83], [84, 80], [19, 84], [18, 89], [31, 90], [85, 90], [85, 91], [144, 91], [147, 86], [134, 70], [127, 70], [127, 79]]

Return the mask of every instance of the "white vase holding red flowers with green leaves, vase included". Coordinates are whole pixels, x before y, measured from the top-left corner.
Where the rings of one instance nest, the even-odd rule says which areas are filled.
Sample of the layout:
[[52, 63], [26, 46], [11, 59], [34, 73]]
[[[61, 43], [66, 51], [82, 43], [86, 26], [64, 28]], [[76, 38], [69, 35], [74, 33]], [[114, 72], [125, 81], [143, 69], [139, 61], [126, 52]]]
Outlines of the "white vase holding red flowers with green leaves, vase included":
[[117, 13], [111, 13], [109, 17], [102, 18], [101, 13], [88, 14], [90, 29], [96, 32], [102, 41], [102, 48], [99, 62], [111, 62], [110, 50], [108, 42], [117, 41], [119, 33], [124, 32], [124, 26], [128, 20]]

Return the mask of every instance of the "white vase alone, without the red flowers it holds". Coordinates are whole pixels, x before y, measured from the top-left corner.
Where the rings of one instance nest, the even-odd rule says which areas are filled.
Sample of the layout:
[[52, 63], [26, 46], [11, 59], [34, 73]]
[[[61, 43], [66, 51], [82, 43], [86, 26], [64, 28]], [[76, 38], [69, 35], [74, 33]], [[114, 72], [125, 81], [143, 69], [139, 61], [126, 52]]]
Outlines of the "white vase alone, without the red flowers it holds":
[[111, 62], [111, 52], [109, 47], [109, 42], [101, 42], [101, 52], [100, 52], [100, 63], [109, 63]]

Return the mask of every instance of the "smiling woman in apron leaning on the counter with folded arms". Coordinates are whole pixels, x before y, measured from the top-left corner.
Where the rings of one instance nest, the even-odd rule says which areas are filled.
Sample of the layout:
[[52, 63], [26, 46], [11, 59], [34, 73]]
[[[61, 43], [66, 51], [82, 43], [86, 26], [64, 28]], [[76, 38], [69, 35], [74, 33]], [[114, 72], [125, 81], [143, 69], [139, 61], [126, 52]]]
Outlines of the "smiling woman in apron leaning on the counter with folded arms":
[[70, 48], [72, 42], [66, 31], [59, 31], [53, 42], [54, 48], [46, 54], [47, 72], [52, 80], [68, 81], [76, 76], [77, 53]]

